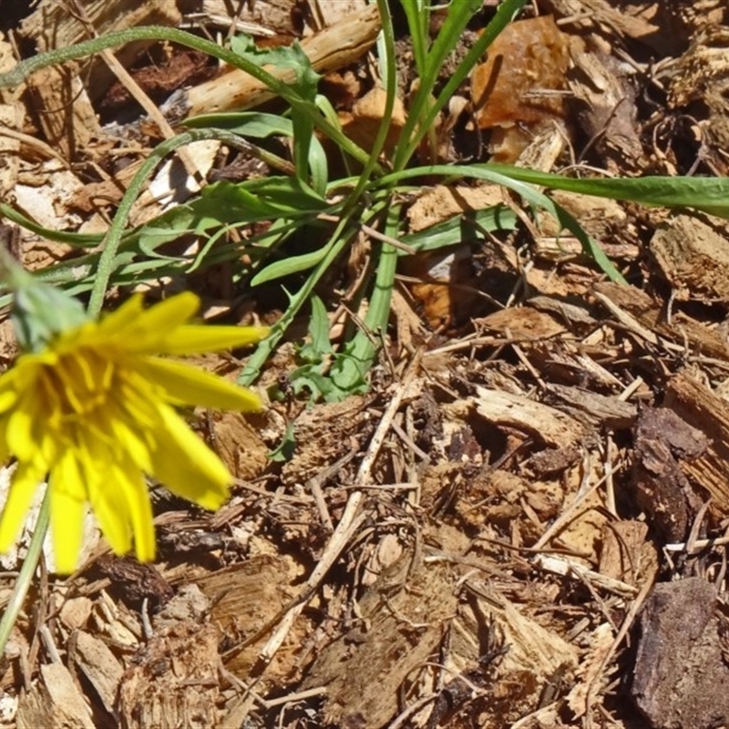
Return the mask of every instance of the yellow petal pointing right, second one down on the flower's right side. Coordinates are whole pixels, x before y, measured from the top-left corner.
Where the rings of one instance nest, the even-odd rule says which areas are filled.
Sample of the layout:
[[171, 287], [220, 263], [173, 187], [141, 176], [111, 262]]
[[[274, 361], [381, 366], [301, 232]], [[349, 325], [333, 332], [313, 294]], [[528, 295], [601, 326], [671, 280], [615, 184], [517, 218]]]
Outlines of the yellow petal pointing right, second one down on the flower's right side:
[[261, 398], [219, 375], [210, 375], [190, 364], [145, 357], [139, 372], [154, 382], [176, 404], [214, 407], [219, 410], [261, 410]]

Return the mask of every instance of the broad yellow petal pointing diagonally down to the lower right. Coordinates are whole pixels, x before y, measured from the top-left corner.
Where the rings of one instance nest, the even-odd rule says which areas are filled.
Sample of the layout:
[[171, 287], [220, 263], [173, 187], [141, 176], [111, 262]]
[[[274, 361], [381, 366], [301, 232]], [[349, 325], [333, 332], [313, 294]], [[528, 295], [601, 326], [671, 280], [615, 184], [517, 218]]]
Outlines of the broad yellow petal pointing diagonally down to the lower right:
[[151, 475], [202, 508], [220, 508], [232, 481], [228, 468], [171, 407], [160, 405], [159, 415], [162, 427], [156, 434]]

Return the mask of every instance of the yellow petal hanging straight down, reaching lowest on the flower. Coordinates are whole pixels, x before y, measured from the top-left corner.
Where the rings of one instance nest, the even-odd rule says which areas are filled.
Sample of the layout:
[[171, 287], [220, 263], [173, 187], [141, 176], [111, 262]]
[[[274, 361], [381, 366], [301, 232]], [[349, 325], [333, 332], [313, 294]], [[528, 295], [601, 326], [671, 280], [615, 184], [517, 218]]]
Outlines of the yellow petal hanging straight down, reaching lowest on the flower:
[[56, 571], [67, 575], [77, 569], [84, 539], [87, 499], [77, 453], [71, 448], [59, 458], [48, 479], [51, 489], [51, 535]]

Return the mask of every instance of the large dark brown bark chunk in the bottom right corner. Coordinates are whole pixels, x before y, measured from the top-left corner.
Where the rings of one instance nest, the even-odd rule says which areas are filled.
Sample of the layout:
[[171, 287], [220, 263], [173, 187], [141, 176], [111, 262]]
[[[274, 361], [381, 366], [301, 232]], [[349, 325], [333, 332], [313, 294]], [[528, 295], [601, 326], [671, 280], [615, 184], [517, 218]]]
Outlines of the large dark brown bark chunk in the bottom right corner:
[[729, 719], [714, 587], [700, 578], [656, 585], [640, 627], [631, 696], [652, 727], [710, 729]]

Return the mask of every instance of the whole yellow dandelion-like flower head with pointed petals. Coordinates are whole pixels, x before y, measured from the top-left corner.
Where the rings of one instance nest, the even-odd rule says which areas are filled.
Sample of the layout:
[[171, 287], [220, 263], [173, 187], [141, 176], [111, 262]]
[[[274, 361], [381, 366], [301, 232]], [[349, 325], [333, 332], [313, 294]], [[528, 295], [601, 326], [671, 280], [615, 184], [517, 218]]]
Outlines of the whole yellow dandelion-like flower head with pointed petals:
[[198, 298], [181, 293], [147, 310], [129, 299], [99, 322], [58, 334], [21, 354], [0, 375], [0, 462], [17, 467], [0, 518], [0, 551], [23, 526], [48, 475], [51, 529], [60, 573], [76, 569], [90, 504], [117, 554], [132, 547], [153, 560], [154, 528], [145, 474], [171, 491], [219, 508], [231, 474], [175, 406], [258, 410], [252, 392], [154, 354], [200, 354], [257, 342], [256, 327], [188, 324]]

